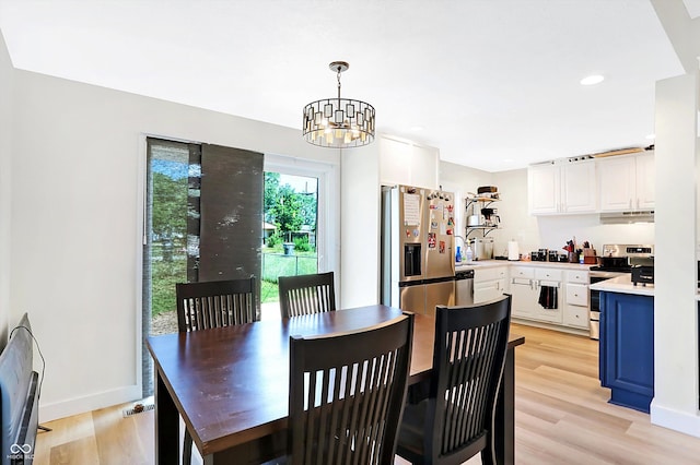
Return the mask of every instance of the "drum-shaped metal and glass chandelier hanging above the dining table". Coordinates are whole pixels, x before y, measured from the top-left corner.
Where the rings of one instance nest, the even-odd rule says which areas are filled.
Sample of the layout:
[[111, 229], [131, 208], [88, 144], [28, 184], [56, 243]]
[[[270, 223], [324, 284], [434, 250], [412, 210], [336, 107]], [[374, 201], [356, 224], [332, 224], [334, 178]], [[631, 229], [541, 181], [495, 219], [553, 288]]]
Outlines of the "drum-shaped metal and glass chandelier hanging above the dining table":
[[340, 73], [350, 64], [334, 61], [338, 74], [338, 97], [312, 102], [304, 107], [304, 139], [322, 147], [359, 147], [374, 141], [374, 107], [362, 100], [340, 98]]

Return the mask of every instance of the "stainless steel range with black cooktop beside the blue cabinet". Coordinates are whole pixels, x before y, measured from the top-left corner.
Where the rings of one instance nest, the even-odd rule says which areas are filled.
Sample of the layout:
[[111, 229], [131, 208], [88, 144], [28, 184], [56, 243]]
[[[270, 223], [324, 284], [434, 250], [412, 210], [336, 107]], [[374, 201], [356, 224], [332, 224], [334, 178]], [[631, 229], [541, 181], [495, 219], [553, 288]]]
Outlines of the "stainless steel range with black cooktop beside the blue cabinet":
[[[599, 283], [626, 274], [631, 275], [633, 266], [654, 266], [653, 245], [612, 243], [603, 246], [598, 265], [591, 266], [590, 284]], [[591, 290], [591, 338], [600, 334], [600, 291]]]

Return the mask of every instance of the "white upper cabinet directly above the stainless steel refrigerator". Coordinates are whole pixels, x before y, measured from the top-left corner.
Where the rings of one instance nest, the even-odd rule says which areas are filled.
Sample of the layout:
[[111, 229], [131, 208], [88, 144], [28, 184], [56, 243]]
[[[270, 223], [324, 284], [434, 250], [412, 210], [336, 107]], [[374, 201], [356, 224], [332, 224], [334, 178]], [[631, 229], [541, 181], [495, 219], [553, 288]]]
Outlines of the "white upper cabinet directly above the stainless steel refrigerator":
[[410, 141], [381, 136], [380, 179], [384, 186], [439, 188], [440, 152]]

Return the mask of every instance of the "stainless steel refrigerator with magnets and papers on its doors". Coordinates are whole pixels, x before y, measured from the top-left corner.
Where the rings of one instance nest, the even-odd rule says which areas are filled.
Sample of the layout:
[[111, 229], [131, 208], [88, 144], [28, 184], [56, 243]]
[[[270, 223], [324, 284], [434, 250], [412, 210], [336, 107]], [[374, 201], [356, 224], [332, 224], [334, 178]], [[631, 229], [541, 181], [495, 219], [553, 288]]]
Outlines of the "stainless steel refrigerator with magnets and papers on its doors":
[[455, 303], [455, 201], [452, 192], [382, 189], [382, 303], [434, 314]]

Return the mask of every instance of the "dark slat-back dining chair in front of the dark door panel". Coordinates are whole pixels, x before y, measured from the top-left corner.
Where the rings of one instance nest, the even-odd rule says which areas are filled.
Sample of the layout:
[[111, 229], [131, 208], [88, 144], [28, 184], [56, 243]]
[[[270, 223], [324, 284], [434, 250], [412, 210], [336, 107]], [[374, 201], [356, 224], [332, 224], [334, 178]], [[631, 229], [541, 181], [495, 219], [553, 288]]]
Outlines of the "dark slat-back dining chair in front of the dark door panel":
[[[180, 333], [253, 323], [257, 320], [255, 277], [177, 283], [177, 329]], [[183, 464], [192, 457], [192, 437], [185, 429]]]

